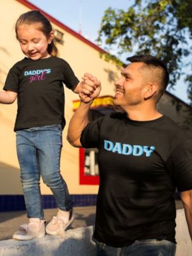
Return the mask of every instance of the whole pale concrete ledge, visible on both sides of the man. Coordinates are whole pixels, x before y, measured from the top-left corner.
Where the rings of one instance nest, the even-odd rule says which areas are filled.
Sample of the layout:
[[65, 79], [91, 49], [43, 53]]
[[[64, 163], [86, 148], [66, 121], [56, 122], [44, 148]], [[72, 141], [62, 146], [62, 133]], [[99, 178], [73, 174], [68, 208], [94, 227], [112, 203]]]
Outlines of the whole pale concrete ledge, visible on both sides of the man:
[[[186, 224], [184, 210], [177, 210], [177, 252], [176, 256], [191, 256], [192, 245]], [[31, 241], [0, 241], [0, 256], [92, 256], [95, 244], [92, 241], [93, 227], [70, 229], [65, 239], [45, 236]]]

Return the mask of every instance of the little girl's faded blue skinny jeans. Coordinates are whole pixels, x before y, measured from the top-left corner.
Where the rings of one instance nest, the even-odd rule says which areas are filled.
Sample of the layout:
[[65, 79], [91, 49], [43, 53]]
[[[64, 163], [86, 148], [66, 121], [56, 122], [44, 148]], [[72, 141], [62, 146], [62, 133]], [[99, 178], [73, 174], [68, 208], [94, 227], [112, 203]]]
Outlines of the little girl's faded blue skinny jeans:
[[20, 179], [28, 218], [44, 218], [41, 204], [40, 175], [51, 189], [58, 208], [69, 211], [72, 201], [60, 174], [61, 125], [47, 125], [16, 131]]

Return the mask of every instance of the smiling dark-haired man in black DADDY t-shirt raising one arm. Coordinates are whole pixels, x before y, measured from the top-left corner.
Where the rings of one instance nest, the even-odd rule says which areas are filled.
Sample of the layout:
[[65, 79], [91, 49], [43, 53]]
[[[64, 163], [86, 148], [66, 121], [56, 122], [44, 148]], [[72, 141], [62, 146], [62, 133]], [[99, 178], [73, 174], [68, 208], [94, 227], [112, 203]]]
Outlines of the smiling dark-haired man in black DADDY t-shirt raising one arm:
[[[131, 64], [115, 83], [113, 101], [123, 113], [88, 122], [97, 83], [92, 95], [80, 95], [68, 141], [99, 149], [97, 255], [173, 256], [176, 188], [192, 238], [192, 140], [156, 109], [169, 81], [166, 65], [153, 56], [127, 60]], [[86, 76], [84, 88], [90, 91], [95, 78]]]

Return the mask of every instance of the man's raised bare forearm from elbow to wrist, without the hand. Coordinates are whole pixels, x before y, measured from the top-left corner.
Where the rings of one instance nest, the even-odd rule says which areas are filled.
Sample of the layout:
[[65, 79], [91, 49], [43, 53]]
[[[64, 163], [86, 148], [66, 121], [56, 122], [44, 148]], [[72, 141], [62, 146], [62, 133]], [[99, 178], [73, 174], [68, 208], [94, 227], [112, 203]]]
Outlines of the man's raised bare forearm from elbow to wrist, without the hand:
[[92, 101], [90, 103], [81, 102], [68, 125], [67, 140], [74, 147], [81, 147], [81, 132], [88, 124], [88, 111], [91, 104]]

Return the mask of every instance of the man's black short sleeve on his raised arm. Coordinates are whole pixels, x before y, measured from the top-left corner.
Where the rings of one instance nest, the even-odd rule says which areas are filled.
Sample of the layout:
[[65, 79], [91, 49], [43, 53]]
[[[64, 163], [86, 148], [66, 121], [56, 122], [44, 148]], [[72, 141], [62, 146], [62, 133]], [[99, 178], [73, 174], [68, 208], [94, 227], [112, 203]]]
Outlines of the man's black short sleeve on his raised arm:
[[102, 117], [94, 120], [84, 128], [81, 134], [81, 145], [83, 145], [84, 148], [99, 147], [100, 126], [102, 124], [102, 120]]

